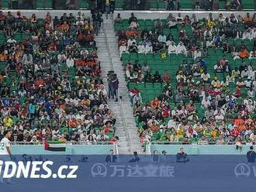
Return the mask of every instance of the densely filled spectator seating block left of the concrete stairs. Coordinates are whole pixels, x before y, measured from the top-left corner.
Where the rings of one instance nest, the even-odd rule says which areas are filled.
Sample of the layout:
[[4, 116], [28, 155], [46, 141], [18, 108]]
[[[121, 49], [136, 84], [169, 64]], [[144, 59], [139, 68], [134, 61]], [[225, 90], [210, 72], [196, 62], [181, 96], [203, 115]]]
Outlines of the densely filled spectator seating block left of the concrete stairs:
[[12, 142], [116, 140], [94, 27], [78, 17], [0, 13], [1, 126]]

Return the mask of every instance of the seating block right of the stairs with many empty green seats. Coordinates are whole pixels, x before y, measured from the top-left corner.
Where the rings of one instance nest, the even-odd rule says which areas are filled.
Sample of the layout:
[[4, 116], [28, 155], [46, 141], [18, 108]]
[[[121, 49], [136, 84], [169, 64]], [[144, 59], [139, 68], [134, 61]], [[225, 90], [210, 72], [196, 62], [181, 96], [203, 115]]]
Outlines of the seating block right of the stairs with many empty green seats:
[[255, 23], [255, 15], [116, 18], [143, 144], [255, 141]]

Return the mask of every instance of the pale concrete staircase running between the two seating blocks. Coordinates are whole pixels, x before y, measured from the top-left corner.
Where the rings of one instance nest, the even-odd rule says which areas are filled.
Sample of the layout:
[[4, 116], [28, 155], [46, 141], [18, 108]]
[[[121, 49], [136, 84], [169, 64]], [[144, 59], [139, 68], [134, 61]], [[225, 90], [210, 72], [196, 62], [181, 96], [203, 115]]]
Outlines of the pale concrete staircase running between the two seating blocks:
[[103, 82], [107, 86], [107, 73], [109, 70], [114, 70], [119, 79], [119, 96], [122, 96], [122, 100], [119, 99], [117, 102], [112, 98], [108, 101], [109, 108], [116, 115], [116, 136], [119, 136], [119, 154], [132, 154], [133, 151], [141, 154], [143, 149], [137, 134], [133, 110], [130, 106], [122, 62], [119, 59], [112, 15], [109, 15], [109, 19], [104, 17], [101, 31], [102, 33], [96, 36], [95, 41], [98, 46], [99, 60], [101, 61]]

